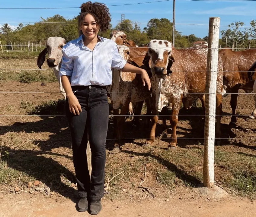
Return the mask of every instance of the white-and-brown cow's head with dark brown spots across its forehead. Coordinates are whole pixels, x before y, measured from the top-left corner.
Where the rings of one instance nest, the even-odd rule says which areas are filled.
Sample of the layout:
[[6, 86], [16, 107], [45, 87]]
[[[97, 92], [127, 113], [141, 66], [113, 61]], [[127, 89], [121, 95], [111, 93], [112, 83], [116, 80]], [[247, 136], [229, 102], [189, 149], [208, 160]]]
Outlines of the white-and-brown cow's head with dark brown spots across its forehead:
[[172, 54], [171, 42], [165, 40], [151, 40], [148, 44], [148, 51], [143, 60], [143, 64], [147, 70], [149, 68], [149, 60], [151, 60], [152, 74], [158, 78], [165, 78], [166, 75], [171, 74], [171, 66], [174, 57]]

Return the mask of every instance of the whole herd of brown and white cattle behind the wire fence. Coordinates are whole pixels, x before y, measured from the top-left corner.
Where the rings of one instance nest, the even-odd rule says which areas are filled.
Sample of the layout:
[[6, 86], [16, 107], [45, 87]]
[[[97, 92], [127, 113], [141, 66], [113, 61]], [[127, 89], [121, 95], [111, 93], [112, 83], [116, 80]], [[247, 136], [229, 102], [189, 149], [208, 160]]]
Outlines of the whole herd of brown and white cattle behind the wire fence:
[[[137, 46], [135, 42], [128, 41], [126, 34], [122, 31], [113, 31], [110, 38], [117, 43], [118, 51], [123, 59], [148, 72], [152, 84], [151, 90], [148, 91], [147, 87], [142, 85], [140, 75], [112, 69], [112, 85], [107, 87], [108, 96], [114, 115], [118, 115], [119, 109], [121, 109], [120, 115], [114, 116], [116, 141], [112, 153], [120, 152], [120, 138], [127, 111], [130, 114], [134, 112], [135, 124], [138, 123], [144, 101], [147, 105], [148, 118], [146, 121], [148, 122], [152, 117], [149, 139], [146, 140], [144, 146], [152, 144], [155, 139], [158, 113], [165, 112], [167, 108], [170, 108], [172, 109], [170, 115], [172, 132], [168, 150], [175, 150], [177, 146], [176, 126], [181, 103], [184, 104], [184, 108], [190, 109], [193, 102], [199, 98], [203, 111], [205, 108], [208, 49], [205, 47], [175, 49], [171, 42], [156, 39], [151, 40], [147, 46]], [[64, 44], [64, 38], [48, 38], [47, 47], [38, 56], [37, 65], [41, 69], [48, 53], [47, 64], [54, 69], [54, 74], [59, 81], [60, 92], [66, 97], [59, 76], [62, 59], [61, 48]], [[256, 93], [254, 84], [256, 63], [253, 64], [255, 61], [256, 50], [254, 49], [235, 52], [225, 48], [219, 51], [216, 86], [216, 140], [221, 137], [222, 97], [232, 93], [230, 124], [236, 124], [235, 109], [238, 90], [242, 89], [246, 93], [251, 93], [254, 90]], [[256, 115], [256, 97], [254, 101], [255, 108], [248, 120], [254, 119]], [[163, 127], [165, 129], [163, 133], [166, 133], [165, 118], [163, 118]]]

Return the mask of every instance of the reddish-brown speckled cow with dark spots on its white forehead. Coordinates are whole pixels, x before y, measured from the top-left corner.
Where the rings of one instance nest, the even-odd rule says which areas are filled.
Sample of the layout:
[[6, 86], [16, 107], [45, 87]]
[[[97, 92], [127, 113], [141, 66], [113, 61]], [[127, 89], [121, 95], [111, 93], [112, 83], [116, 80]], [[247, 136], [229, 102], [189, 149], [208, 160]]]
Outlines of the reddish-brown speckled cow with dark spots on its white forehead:
[[[165, 40], [151, 40], [143, 63], [149, 68], [151, 61], [151, 85], [153, 112], [152, 129], [149, 140], [144, 146], [150, 145], [155, 139], [155, 127], [158, 122], [158, 112], [163, 108], [163, 102], [172, 103], [171, 142], [168, 150], [175, 150], [177, 145], [176, 126], [182, 99], [198, 99], [203, 97], [206, 86], [207, 49], [179, 49], [176, 50], [171, 42]], [[222, 113], [222, 60], [219, 58], [216, 87], [216, 115]], [[221, 116], [216, 117], [216, 138], [220, 138]]]

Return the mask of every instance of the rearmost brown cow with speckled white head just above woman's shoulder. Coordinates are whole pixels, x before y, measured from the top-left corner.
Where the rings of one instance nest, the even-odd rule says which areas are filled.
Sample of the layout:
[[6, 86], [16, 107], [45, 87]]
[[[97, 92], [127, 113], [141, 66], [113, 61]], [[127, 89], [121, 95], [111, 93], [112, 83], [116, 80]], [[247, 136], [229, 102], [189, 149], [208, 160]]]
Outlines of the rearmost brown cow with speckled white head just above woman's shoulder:
[[126, 39], [126, 34], [123, 31], [113, 31], [110, 33], [110, 38], [118, 45], [124, 44], [130, 48], [130, 57], [134, 58], [137, 56], [145, 55], [148, 48], [147, 46], [134, 46], [135, 42], [130, 42]]

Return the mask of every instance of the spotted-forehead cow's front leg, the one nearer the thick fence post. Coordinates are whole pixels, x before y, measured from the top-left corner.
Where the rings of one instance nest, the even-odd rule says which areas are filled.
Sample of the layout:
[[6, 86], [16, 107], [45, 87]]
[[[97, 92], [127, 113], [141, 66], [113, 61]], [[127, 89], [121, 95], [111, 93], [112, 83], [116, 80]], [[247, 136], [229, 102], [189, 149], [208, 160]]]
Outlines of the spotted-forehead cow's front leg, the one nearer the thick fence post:
[[182, 102], [182, 96], [180, 100], [174, 99], [173, 101], [173, 108], [172, 108], [172, 113], [170, 116], [170, 123], [171, 123], [171, 141], [168, 145], [167, 150], [168, 151], [175, 151], [176, 150], [176, 146], [178, 144], [177, 142], [177, 135], [176, 135], [176, 127], [178, 124], [178, 114], [181, 108], [181, 102]]

